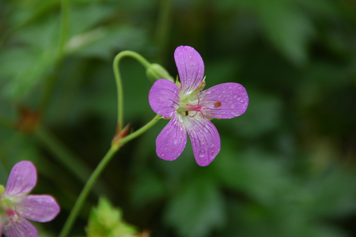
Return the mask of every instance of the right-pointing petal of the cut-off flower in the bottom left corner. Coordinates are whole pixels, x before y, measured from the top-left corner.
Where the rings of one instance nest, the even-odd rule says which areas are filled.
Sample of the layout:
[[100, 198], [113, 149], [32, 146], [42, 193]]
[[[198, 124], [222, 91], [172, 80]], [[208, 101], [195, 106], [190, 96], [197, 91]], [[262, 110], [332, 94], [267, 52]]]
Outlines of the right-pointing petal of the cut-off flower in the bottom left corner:
[[27, 219], [47, 222], [58, 215], [60, 206], [49, 195], [26, 195], [16, 200], [16, 211]]

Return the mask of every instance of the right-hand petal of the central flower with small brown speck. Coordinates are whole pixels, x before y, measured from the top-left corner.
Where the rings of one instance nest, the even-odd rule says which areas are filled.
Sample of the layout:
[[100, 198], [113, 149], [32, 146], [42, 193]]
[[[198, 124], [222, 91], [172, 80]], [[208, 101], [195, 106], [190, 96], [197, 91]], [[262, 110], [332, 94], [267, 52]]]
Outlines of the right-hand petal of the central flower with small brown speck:
[[228, 119], [245, 113], [249, 97], [238, 83], [224, 83], [199, 93], [200, 101], [207, 101], [203, 113], [206, 117]]

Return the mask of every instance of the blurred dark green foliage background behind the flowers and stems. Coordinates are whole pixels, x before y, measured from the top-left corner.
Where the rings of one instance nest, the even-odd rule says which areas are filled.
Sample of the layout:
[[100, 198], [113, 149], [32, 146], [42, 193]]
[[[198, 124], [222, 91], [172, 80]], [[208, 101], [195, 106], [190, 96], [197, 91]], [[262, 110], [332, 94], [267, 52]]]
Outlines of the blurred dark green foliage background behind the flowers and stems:
[[[0, 182], [38, 168], [34, 193], [61, 204], [55, 236], [116, 126], [114, 56], [134, 50], [175, 77], [190, 45], [206, 88], [242, 84], [244, 115], [213, 120], [221, 151], [199, 167], [189, 142], [159, 159], [159, 121], [101, 175], [72, 231], [85, 236], [99, 196], [153, 237], [356, 236], [356, 2], [353, 0], [13, 0], [0, 2]], [[154, 112], [151, 83], [121, 63], [125, 123]]]

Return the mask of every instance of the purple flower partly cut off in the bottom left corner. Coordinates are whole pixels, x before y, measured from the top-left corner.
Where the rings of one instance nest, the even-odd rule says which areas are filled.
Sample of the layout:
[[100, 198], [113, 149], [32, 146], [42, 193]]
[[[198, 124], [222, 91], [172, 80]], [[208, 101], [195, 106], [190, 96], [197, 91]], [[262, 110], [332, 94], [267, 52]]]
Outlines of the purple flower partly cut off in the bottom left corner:
[[37, 229], [25, 218], [47, 222], [60, 212], [49, 195], [27, 195], [36, 185], [35, 166], [29, 161], [17, 163], [11, 170], [6, 188], [0, 192], [0, 235], [6, 237], [36, 237]]

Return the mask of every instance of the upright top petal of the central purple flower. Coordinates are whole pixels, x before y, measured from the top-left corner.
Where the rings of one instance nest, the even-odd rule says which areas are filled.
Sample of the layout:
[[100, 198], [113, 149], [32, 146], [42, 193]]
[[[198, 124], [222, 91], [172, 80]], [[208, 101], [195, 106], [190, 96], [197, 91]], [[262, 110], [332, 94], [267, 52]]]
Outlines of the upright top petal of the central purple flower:
[[190, 46], [177, 47], [174, 51], [174, 60], [181, 80], [183, 100], [195, 91], [203, 80], [204, 62], [199, 53]]

